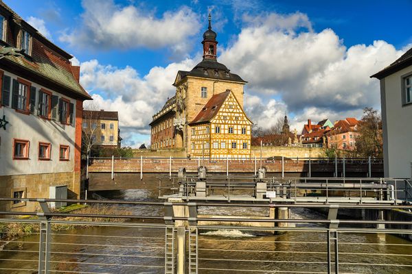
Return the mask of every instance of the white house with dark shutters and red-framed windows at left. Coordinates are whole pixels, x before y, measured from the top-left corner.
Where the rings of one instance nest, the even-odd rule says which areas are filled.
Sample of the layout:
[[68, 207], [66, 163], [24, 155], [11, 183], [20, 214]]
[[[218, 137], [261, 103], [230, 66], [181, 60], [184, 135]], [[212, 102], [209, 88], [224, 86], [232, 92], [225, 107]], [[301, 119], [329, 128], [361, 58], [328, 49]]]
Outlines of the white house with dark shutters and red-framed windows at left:
[[[49, 198], [55, 186], [80, 195], [83, 101], [80, 67], [0, 1], [1, 197]], [[37, 203], [1, 203], [32, 211]]]

